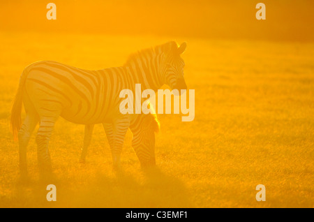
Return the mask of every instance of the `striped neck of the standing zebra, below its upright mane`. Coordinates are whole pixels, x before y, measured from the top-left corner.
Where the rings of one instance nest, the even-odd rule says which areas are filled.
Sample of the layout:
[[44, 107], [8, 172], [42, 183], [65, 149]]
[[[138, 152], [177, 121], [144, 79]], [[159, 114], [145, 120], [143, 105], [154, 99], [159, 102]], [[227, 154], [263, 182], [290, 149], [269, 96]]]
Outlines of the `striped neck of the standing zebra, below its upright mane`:
[[126, 75], [131, 76], [135, 83], [140, 83], [142, 90], [153, 89], [157, 91], [163, 85], [161, 54], [153, 49], [142, 50], [130, 56], [124, 68]]

